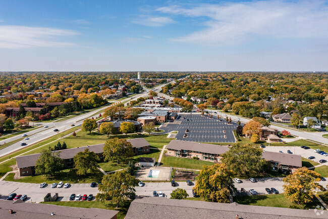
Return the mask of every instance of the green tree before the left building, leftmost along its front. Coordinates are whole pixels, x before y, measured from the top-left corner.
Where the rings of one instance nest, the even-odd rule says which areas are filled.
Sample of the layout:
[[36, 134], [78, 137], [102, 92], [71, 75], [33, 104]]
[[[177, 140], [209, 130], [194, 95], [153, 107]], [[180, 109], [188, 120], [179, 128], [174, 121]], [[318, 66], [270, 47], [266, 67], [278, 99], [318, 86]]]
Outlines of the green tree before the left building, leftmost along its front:
[[64, 161], [60, 158], [60, 152], [53, 153], [51, 148], [42, 150], [35, 162], [35, 173], [53, 176], [63, 169]]

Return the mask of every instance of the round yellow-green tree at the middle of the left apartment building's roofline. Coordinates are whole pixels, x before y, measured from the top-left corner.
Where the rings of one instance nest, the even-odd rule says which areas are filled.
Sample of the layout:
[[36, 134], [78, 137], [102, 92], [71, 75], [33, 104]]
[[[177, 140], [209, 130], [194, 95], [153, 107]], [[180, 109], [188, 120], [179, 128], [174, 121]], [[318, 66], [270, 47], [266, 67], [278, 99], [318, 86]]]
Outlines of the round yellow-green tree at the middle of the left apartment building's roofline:
[[115, 138], [105, 142], [103, 156], [105, 161], [120, 163], [134, 156], [134, 152], [130, 142], [125, 139]]

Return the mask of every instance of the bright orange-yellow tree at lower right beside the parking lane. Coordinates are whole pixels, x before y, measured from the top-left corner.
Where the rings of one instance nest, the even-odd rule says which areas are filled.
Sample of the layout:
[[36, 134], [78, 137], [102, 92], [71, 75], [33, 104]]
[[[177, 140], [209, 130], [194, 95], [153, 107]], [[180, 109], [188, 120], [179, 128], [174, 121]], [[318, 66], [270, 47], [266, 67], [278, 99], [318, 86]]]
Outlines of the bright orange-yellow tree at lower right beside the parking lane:
[[309, 170], [305, 166], [298, 168], [293, 174], [283, 179], [285, 197], [298, 204], [311, 202], [316, 195], [316, 188], [323, 189], [318, 184], [320, 180], [319, 173]]

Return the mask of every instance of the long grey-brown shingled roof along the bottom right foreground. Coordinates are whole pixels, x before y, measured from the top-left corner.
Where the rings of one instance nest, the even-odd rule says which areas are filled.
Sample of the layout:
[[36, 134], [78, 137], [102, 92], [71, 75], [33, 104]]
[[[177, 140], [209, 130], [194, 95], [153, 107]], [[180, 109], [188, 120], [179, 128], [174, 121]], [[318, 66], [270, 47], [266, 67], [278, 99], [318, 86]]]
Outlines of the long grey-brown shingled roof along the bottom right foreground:
[[236, 214], [243, 219], [295, 219], [326, 218], [323, 213], [317, 216], [313, 209], [300, 210], [291, 208], [242, 205], [236, 202], [213, 203], [204, 201], [178, 200], [158, 197], [138, 197], [132, 201], [125, 219], [152, 219], [157, 215], [161, 219], [206, 218], [235, 219]]

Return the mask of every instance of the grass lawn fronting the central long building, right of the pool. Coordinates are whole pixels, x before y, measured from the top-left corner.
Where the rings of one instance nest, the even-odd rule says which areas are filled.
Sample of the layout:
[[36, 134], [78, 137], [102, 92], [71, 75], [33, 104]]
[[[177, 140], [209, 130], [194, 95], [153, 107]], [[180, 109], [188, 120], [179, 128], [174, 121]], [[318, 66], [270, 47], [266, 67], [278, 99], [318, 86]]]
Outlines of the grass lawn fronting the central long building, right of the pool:
[[188, 168], [188, 169], [202, 169], [203, 165], [211, 166], [214, 163], [203, 160], [194, 160], [189, 158], [179, 158], [163, 156], [161, 158], [162, 166], [173, 166], [178, 168]]

